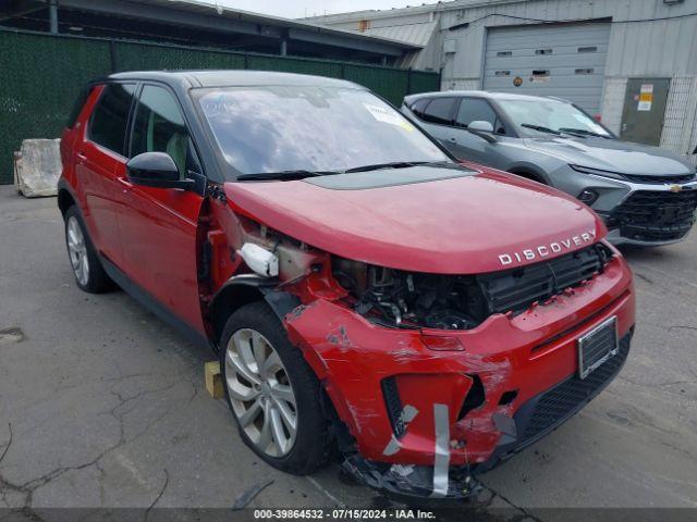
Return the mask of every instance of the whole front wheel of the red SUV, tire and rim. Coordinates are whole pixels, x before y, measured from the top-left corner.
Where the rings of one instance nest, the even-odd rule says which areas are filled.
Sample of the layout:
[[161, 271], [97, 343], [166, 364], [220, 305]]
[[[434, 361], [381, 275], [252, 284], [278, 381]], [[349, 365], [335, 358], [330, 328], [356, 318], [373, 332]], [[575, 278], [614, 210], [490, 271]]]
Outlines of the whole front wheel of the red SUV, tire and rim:
[[[269, 371], [258, 371], [265, 366]], [[266, 302], [246, 304], [230, 316], [220, 341], [220, 369], [240, 435], [265, 462], [297, 475], [327, 462], [332, 443], [319, 382]]]

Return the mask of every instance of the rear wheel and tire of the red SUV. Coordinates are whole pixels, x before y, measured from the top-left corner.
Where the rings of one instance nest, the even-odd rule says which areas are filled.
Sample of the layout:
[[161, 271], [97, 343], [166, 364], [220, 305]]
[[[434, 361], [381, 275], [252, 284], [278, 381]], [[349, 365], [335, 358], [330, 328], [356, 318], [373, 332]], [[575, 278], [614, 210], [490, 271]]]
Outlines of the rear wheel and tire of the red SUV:
[[101, 294], [112, 289], [114, 285], [97, 257], [77, 207], [72, 206], [68, 209], [64, 219], [68, 257], [80, 289], [89, 294]]

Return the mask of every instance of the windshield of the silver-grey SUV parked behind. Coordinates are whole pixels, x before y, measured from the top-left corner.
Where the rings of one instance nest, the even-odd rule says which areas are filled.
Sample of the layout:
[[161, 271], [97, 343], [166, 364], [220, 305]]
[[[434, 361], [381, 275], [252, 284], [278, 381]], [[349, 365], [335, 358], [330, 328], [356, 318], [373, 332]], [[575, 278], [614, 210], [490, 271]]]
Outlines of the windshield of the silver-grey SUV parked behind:
[[[571, 103], [554, 100], [498, 100], [499, 105], [525, 136], [537, 136], [545, 130], [571, 132], [578, 134], [610, 134], [591, 117]], [[534, 129], [531, 127], [541, 127]]]

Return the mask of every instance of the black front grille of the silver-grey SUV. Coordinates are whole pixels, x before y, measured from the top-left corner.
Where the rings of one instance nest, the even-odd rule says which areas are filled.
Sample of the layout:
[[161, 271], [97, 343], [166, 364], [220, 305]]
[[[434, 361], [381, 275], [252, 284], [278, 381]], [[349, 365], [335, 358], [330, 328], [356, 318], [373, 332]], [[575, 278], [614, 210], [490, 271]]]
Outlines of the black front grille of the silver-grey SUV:
[[637, 240], [680, 239], [695, 222], [697, 190], [680, 192], [638, 190], [612, 213], [609, 225]]

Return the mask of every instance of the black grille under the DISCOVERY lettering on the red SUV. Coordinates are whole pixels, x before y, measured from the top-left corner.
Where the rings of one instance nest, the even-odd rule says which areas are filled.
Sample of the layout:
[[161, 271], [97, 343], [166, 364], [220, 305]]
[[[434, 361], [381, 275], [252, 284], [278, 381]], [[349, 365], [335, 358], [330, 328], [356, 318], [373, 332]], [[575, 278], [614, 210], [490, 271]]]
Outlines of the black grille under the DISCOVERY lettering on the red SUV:
[[567, 288], [590, 279], [612, 257], [602, 244], [546, 262], [479, 275], [490, 313], [519, 313], [534, 302], [543, 302]]

